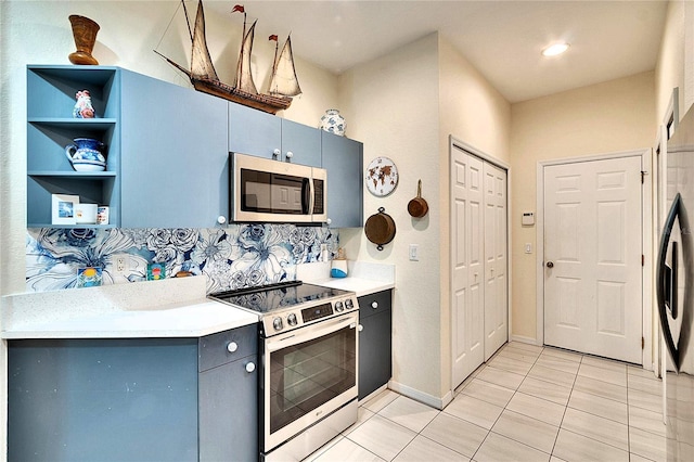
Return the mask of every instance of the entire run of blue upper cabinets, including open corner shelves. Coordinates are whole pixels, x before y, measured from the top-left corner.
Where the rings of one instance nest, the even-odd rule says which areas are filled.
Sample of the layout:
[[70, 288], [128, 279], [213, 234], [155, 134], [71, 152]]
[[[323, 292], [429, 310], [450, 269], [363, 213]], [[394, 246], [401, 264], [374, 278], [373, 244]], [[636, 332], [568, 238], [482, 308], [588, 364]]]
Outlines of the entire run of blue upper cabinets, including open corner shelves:
[[[95, 118], [73, 118], [81, 90], [90, 91]], [[104, 144], [105, 170], [73, 168], [65, 146], [77, 138]], [[54, 194], [108, 206], [107, 227], [227, 222], [229, 152], [325, 168], [332, 226], [362, 226], [357, 141], [118, 67], [27, 67], [29, 228], [104, 227], [54, 223]]]

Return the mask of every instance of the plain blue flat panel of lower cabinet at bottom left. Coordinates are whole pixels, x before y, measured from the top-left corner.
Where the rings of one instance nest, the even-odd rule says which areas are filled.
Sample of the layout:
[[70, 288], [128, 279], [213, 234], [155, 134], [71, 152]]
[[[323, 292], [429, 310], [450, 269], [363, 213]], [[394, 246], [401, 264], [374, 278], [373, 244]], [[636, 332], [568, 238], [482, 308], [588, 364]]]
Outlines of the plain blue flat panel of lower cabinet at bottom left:
[[8, 460], [197, 461], [196, 355], [194, 338], [9, 342]]

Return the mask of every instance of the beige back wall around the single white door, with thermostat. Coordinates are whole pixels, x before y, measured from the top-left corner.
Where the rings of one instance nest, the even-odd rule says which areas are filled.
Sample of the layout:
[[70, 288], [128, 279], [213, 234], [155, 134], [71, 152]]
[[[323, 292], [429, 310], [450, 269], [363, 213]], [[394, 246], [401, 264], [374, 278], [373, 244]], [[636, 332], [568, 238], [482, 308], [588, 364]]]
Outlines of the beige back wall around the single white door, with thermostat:
[[[612, 80], [511, 106], [513, 325], [515, 336], [537, 338], [537, 227], [522, 227], [537, 211], [536, 169], [541, 161], [638, 150], [653, 144], [654, 73]], [[541, 294], [537, 294], [541, 296]]]

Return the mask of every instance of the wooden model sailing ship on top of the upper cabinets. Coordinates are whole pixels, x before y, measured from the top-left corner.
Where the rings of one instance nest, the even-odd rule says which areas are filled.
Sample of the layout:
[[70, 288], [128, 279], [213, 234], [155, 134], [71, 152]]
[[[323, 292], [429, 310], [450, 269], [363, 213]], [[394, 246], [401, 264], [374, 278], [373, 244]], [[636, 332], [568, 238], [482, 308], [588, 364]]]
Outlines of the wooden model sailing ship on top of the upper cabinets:
[[[292, 97], [300, 94], [301, 89], [299, 88], [298, 79], [296, 77], [294, 56], [292, 54], [292, 42], [288, 37], [279, 55], [279, 46], [275, 46], [269, 92], [258, 92], [250, 72], [250, 56], [253, 53], [253, 40], [255, 37], [257, 21], [250, 25], [248, 30], [246, 30], [246, 13], [244, 8], [243, 5], [235, 5], [232, 12], [241, 12], [244, 14], [243, 41], [241, 43], [241, 52], [236, 64], [234, 82], [233, 86], [230, 86], [219, 80], [207, 49], [207, 40], [205, 38], [205, 12], [203, 10], [202, 0], [198, 0], [197, 2], [197, 13], [195, 15], [195, 23], [192, 30], [190, 30], [190, 21], [188, 11], [185, 10], [185, 3], [183, 0], [181, 0], [181, 3], [183, 3], [183, 11], [185, 12], [185, 21], [189, 24], [192, 42], [190, 70], [164, 56], [156, 50], [154, 50], [155, 53], [184, 73], [197, 91], [214, 94], [270, 114], [274, 114], [278, 111], [290, 107], [292, 104]], [[270, 40], [277, 41], [277, 36], [270, 36]]]

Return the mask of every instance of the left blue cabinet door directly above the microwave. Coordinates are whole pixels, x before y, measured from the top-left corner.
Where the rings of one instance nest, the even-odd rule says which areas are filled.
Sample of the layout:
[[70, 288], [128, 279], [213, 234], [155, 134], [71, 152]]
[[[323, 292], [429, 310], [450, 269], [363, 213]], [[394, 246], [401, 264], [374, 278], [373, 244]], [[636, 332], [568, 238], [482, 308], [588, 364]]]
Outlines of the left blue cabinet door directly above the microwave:
[[272, 158], [274, 150], [282, 151], [282, 119], [229, 103], [229, 152]]

